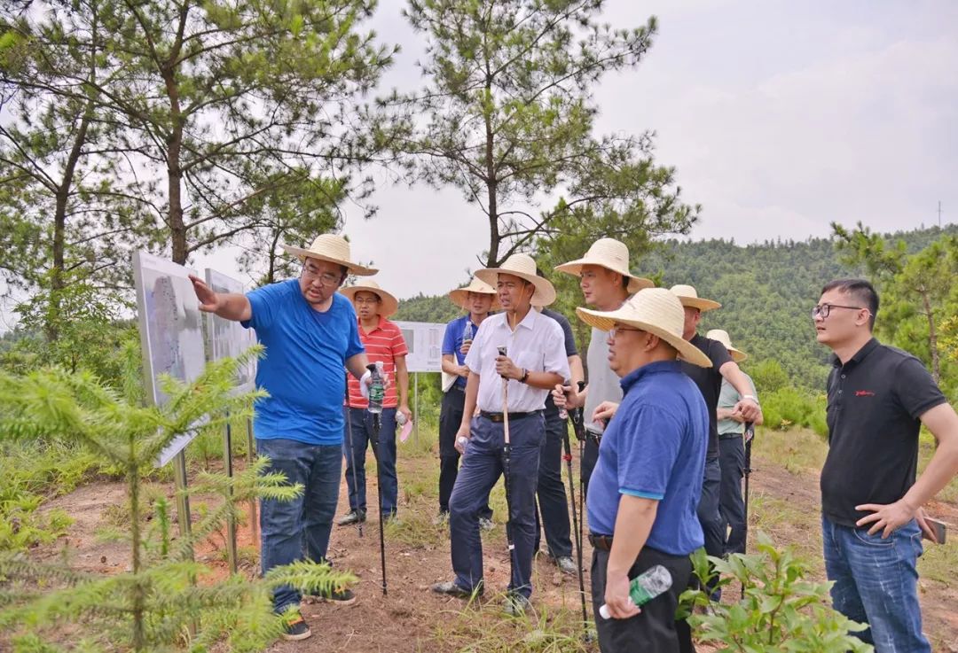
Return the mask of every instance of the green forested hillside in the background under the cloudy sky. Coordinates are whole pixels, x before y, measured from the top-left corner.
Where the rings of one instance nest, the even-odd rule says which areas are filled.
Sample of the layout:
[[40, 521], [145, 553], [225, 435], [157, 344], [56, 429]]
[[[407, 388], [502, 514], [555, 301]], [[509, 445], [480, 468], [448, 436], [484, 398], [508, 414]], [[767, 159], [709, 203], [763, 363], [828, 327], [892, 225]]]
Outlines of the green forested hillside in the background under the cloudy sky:
[[[886, 238], [904, 240], [908, 251], [914, 253], [943, 234], [958, 234], [958, 226], [901, 232]], [[823, 387], [828, 352], [815, 342], [811, 306], [826, 281], [864, 276], [861, 270], [841, 263], [830, 238], [766, 241], [744, 247], [729, 240], [667, 240], [642, 259], [633, 260], [632, 266], [661, 285], [691, 283], [700, 296], [719, 301], [722, 308], [705, 314], [702, 330], [726, 329], [736, 347], [750, 354], [744, 364], [746, 370], [750, 363], [774, 359], [781, 363], [792, 385], [815, 391]], [[557, 302], [570, 318], [569, 309], [581, 305], [581, 297], [574, 293], [574, 289], [563, 289]], [[445, 295], [421, 295], [401, 302], [396, 318], [445, 322], [456, 314]], [[585, 337], [585, 329], [578, 331], [580, 338]]]

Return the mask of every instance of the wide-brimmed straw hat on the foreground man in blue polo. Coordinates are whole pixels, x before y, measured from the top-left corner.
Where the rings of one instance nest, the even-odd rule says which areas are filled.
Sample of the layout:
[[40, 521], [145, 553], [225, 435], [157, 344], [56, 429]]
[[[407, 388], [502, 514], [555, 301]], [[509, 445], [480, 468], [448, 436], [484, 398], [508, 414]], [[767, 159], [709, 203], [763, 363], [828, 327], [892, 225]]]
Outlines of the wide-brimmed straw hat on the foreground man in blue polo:
[[607, 331], [616, 323], [641, 328], [657, 335], [678, 349], [679, 357], [700, 368], [711, 368], [712, 361], [695, 345], [682, 337], [685, 311], [682, 303], [665, 288], [646, 288], [626, 300], [616, 310], [602, 311], [576, 308], [576, 315], [585, 324]]

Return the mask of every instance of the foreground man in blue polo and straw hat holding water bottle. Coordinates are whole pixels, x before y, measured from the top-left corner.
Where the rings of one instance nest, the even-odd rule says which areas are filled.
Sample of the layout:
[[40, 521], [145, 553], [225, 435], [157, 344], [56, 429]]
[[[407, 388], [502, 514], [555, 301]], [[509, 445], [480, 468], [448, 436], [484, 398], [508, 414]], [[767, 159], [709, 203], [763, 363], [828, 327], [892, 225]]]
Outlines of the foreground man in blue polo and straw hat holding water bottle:
[[[692, 574], [689, 554], [705, 541], [696, 505], [709, 416], [676, 357], [701, 367], [711, 361], [682, 338], [682, 304], [664, 288], [640, 290], [617, 310], [576, 313], [608, 331], [609, 368], [624, 394], [605, 428], [587, 496], [599, 645], [604, 653], [677, 652], [683, 642], [675, 608]], [[600, 404], [596, 413], [603, 410]], [[640, 612], [629, 581], [656, 565], [669, 572], [672, 586]], [[603, 604], [610, 619], [600, 615]]]

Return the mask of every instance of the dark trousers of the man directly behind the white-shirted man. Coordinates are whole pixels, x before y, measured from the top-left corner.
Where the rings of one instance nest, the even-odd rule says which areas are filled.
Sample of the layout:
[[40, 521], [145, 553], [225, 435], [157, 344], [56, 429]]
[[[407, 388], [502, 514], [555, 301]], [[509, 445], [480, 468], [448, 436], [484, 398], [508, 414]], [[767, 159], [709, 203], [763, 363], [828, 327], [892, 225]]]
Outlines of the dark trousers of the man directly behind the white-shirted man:
[[[546, 413], [545, 438], [539, 452], [539, 476], [536, 486], [538, 510], [536, 511], [536, 545], [538, 551], [539, 517], [545, 530], [545, 543], [549, 555], [554, 558], [572, 556], [572, 540], [569, 529], [569, 503], [562, 483], [562, 437], [567, 434], [566, 419], [559, 411]], [[574, 499], [574, 498], [573, 498]]]

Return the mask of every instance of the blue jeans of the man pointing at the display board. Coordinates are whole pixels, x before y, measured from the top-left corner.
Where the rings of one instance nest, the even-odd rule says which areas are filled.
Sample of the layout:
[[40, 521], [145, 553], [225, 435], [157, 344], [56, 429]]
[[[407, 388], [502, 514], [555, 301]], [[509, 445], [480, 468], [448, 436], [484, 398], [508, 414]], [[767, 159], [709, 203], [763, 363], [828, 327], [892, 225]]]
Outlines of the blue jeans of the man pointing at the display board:
[[[304, 557], [313, 562], [325, 560], [339, 500], [342, 447], [292, 439], [257, 439], [256, 450], [269, 458], [267, 473], [283, 472], [289, 484], [302, 484], [304, 488], [303, 494], [292, 501], [262, 500], [262, 573]], [[299, 601], [299, 592], [288, 585], [273, 593], [273, 608], [278, 613]]]

